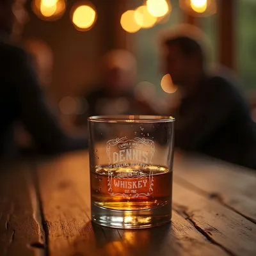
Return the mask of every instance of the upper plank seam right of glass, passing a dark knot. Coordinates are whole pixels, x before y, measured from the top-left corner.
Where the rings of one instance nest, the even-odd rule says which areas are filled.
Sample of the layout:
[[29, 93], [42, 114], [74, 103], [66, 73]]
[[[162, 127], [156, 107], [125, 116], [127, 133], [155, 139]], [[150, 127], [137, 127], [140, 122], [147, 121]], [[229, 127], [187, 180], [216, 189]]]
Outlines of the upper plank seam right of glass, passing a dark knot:
[[188, 182], [188, 180], [183, 179], [179, 175], [174, 175], [174, 177], [175, 177], [174, 182], [179, 184], [183, 188], [190, 188], [195, 193], [197, 193], [198, 195], [204, 196], [204, 197], [209, 198], [211, 200], [215, 200], [216, 202], [218, 202], [219, 204], [223, 205], [227, 209], [230, 209], [231, 211], [236, 212], [237, 214], [241, 215], [246, 220], [251, 221], [252, 223], [256, 224], [256, 220], [254, 220], [253, 218], [251, 218], [249, 216], [246, 216], [242, 212], [237, 211], [237, 209], [235, 209], [234, 207], [232, 207], [232, 206], [228, 205], [227, 203], [225, 203], [223, 198], [222, 198], [222, 196], [220, 195], [220, 193], [208, 193], [208, 192], [204, 191], [204, 189], [198, 188], [197, 186], [195, 186], [194, 184]]

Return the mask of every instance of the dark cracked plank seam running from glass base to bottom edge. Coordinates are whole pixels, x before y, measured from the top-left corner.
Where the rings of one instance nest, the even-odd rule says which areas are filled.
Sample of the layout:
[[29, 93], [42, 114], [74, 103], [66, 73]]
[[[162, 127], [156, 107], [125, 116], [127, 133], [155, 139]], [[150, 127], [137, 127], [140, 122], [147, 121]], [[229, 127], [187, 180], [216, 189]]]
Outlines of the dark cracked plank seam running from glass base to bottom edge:
[[211, 236], [209, 236], [209, 234], [207, 234], [207, 232], [205, 232], [199, 225], [196, 224], [196, 221], [193, 220], [192, 216], [189, 216], [189, 213], [186, 210], [186, 207], [182, 206], [182, 205], [177, 205], [177, 204], [173, 204], [173, 211], [175, 211], [177, 214], [179, 214], [179, 216], [181, 216], [182, 218], [184, 218], [186, 221], [188, 221], [189, 223], [191, 223], [191, 225], [193, 225], [193, 227], [196, 228], [196, 230], [202, 234], [202, 236], [204, 236], [207, 241], [209, 241], [210, 243], [218, 246], [221, 248], [221, 250], [225, 251], [226, 253], [228, 253], [228, 255], [231, 256], [236, 256], [236, 254], [234, 254], [233, 252], [231, 252], [230, 250], [228, 250], [227, 248], [225, 248], [225, 246], [223, 246], [222, 244], [218, 243], [217, 241], [215, 241]]

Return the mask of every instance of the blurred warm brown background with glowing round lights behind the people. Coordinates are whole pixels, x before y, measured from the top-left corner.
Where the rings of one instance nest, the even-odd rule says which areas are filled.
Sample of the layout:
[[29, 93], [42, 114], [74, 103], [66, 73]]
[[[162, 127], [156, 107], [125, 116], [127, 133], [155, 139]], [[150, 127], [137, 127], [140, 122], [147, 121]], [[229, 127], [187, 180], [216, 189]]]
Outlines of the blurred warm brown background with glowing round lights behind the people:
[[[84, 95], [102, 79], [102, 56], [113, 49], [131, 53], [119, 51], [116, 62], [132, 72], [138, 100], [168, 114], [179, 93], [163, 74], [159, 33], [180, 23], [209, 36], [212, 63], [236, 72], [256, 121], [255, 0], [149, 0], [147, 6], [143, 0], [34, 0], [27, 10], [22, 42], [35, 56], [41, 83], [70, 132], [88, 110]], [[115, 65], [115, 58], [107, 59]], [[122, 100], [116, 104], [125, 108]]]

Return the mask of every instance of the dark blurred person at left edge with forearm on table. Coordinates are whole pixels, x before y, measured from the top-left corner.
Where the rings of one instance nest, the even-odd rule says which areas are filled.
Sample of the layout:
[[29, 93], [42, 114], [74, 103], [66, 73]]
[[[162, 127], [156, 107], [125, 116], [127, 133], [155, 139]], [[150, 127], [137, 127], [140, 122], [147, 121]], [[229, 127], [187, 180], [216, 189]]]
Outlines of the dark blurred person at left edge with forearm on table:
[[13, 44], [28, 20], [25, 0], [0, 0], [0, 156], [17, 154], [13, 130], [21, 120], [38, 152], [51, 154], [85, 148], [85, 138], [70, 138], [45, 103], [28, 54]]

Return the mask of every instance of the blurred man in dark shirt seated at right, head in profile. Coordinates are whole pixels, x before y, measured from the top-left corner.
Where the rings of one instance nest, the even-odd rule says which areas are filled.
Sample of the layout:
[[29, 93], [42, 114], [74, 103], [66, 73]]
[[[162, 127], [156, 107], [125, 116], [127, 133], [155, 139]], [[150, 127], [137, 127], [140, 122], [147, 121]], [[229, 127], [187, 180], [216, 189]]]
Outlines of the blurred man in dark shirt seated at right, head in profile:
[[182, 99], [173, 113], [175, 146], [256, 169], [256, 133], [250, 109], [228, 68], [209, 71], [207, 38], [177, 26], [162, 40], [166, 72]]

